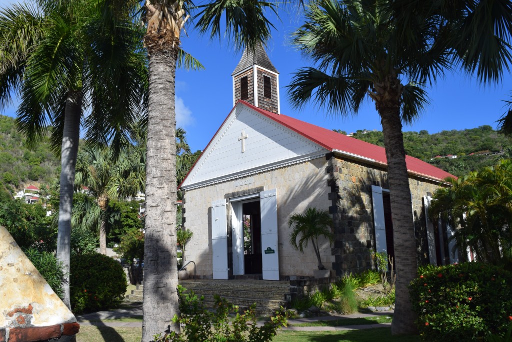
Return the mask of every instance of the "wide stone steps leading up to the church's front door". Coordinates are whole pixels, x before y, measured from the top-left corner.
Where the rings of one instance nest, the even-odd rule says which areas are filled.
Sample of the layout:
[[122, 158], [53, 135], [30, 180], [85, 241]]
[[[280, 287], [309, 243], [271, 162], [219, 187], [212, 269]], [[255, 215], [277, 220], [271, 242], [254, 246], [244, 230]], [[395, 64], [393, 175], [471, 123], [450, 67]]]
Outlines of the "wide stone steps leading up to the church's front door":
[[[214, 295], [217, 294], [238, 305], [240, 311], [256, 303], [256, 310], [260, 315], [270, 315], [280, 306], [286, 307], [290, 298], [289, 281], [198, 279], [180, 280], [179, 284], [198, 296], [204, 296], [207, 307], [213, 307]], [[126, 299], [142, 301], [142, 288], [142, 285], [138, 285]]]

